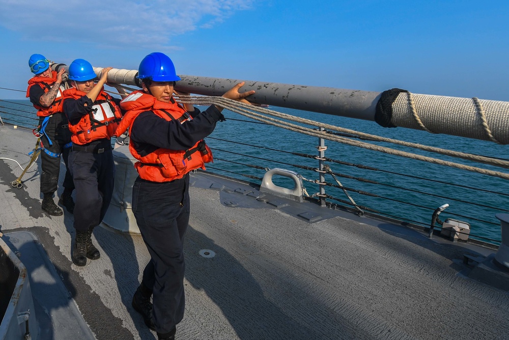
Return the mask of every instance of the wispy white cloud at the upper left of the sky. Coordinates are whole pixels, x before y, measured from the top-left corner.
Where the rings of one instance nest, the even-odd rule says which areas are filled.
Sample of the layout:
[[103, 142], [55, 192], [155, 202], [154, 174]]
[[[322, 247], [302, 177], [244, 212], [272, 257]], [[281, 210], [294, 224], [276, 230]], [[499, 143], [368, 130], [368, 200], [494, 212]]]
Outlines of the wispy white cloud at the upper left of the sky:
[[0, 0], [0, 25], [37, 41], [168, 47], [172, 37], [211, 28], [252, 0]]

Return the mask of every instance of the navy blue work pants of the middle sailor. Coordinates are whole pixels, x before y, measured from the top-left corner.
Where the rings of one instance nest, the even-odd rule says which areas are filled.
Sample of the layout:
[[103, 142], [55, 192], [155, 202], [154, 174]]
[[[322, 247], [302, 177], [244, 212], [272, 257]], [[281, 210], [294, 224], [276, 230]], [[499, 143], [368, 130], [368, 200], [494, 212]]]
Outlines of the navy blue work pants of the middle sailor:
[[115, 184], [115, 163], [111, 149], [102, 153], [71, 151], [71, 170], [76, 188], [74, 228], [86, 231], [98, 226], [109, 207]]

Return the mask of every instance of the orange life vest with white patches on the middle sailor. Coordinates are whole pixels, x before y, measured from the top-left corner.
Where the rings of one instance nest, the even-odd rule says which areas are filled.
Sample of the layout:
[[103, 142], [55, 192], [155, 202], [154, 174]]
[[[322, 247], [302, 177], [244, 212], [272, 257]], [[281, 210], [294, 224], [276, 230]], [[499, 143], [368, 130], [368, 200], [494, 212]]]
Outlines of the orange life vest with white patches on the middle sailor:
[[[64, 100], [68, 98], [79, 99], [86, 93], [75, 88], [64, 91]], [[111, 96], [104, 92], [104, 87], [97, 96], [92, 106], [92, 111], [83, 115], [75, 125], [69, 122], [69, 130], [72, 133], [71, 141], [74, 144], [87, 144], [97, 139], [110, 139], [115, 133], [122, 113]]]

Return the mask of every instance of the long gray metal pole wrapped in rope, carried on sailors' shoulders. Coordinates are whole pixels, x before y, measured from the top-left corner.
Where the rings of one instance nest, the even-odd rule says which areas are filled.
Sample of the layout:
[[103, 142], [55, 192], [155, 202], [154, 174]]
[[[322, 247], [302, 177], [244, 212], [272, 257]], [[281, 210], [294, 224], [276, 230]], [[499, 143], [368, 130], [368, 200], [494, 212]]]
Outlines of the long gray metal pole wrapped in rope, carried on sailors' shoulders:
[[[60, 67], [67, 68], [63, 64]], [[94, 67], [94, 71], [99, 75], [102, 68]], [[107, 81], [141, 87], [136, 75], [136, 70], [112, 69], [108, 72]], [[180, 77], [182, 80], [177, 82], [176, 90], [207, 96], [220, 96], [244, 81], [192, 75]], [[412, 94], [408, 91], [387, 100], [384, 92], [244, 82], [240, 92], [255, 90], [256, 93], [247, 98], [254, 103], [509, 144], [509, 102]]]

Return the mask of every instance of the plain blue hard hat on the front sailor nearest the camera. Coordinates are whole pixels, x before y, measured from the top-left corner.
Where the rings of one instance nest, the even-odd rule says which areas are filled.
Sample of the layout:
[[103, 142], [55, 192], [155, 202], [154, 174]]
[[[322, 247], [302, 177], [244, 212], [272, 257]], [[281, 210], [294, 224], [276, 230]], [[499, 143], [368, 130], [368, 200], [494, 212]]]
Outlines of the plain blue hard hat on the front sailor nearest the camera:
[[139, 63], [138, 79], [150, 79], [154, 82], [176, 82], [180, 77], [175, 72], [173, 61], [164, 53], [154, 52]]

